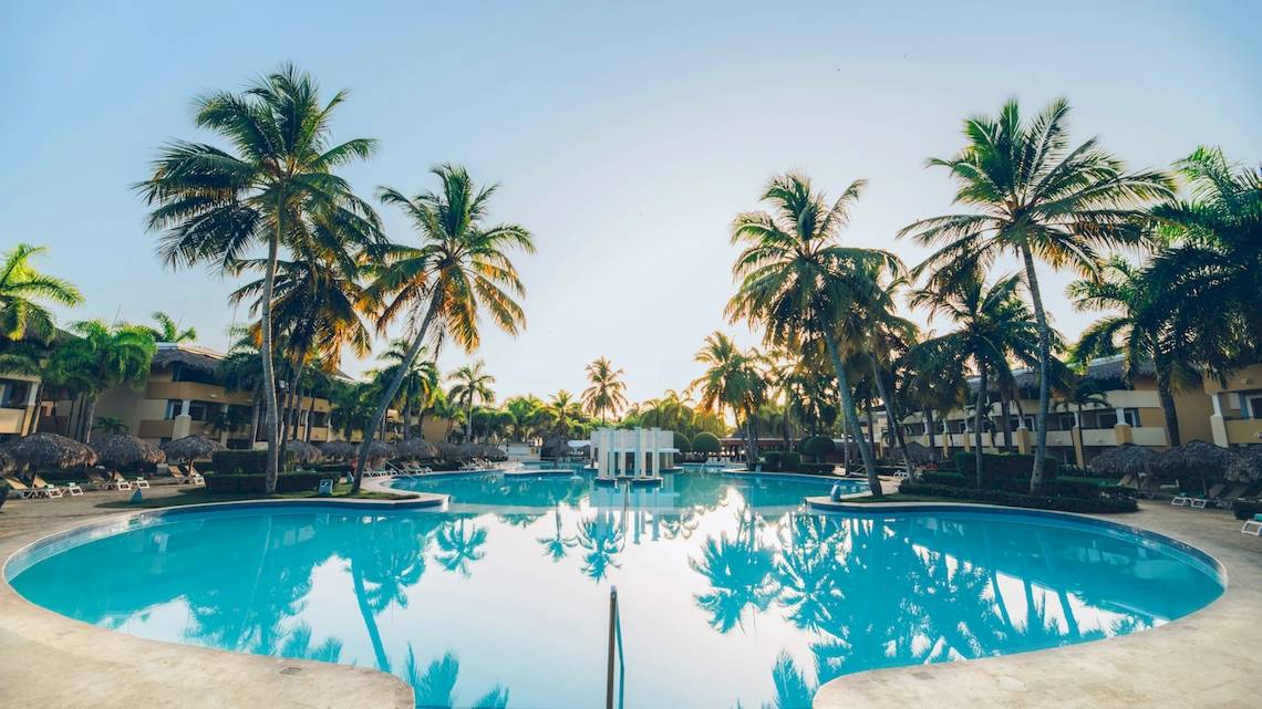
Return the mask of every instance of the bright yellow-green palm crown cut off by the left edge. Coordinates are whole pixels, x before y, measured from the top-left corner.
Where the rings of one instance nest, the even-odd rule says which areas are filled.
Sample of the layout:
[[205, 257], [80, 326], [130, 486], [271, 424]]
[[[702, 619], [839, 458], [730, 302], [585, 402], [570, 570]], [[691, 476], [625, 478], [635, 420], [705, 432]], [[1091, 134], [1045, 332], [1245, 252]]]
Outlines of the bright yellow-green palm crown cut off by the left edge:
[[57, 327], [45, 304], [73, 307], [83, 302], [69, 281], [42, 274], [32, 265], [45, 251], [19, 243], [0, 256], [0, 341], [32, 337], [49, 342]]

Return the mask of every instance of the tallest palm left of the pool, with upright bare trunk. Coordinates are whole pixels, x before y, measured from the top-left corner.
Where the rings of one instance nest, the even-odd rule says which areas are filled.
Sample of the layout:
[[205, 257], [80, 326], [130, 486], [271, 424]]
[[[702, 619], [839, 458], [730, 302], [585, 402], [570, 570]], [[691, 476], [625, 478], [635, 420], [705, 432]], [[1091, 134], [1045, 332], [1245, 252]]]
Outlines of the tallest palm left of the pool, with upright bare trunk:
[[281, 247], [310, 242], [321, 223], [341, 233], [376, 241], [377, 216], [333, 170], [372, 154], [376, 143], [333, 144], [338, 92], [322, 103], [316, 82], [292, 64], [254, 82], [241, 93], [217, 92], [197, 100], [198, 127], [216, 131], [233, 148], [201, 143], [168, 144], [153, 175], [136, 185], [149, 204], [151, 231], [164, 231], [158, 255], [169, 266], [212, 264], [225, 272], [252, 246], [266, 245], [260, 296], [262, 404], [268, 410], [266, 489], [276, 488], [280, 419], [273, 366], [273, 288]]

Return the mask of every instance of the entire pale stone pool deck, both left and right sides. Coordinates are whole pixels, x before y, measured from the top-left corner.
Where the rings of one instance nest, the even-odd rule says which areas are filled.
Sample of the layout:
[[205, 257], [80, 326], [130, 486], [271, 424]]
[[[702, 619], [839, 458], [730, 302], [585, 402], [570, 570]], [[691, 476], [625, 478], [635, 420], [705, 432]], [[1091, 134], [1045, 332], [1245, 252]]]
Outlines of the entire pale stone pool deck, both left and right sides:
[[[0, 510], [0, 559], [112, 515], [126, 492]], [[149, 497], [174, 495], [154, 487]], [[1191, 544], [1227, 569], [1209, 607], [1153, 631], [969, 662], [839, 677], [815, 709], [1262, 706], [1262, 540], [1228, 512], [1141, 503], [1103, 517]], [[0, 706], [11, 709], [411, 709], [411, 688], [375, 670], [141, 640], [39, 608], [0, 582]]]

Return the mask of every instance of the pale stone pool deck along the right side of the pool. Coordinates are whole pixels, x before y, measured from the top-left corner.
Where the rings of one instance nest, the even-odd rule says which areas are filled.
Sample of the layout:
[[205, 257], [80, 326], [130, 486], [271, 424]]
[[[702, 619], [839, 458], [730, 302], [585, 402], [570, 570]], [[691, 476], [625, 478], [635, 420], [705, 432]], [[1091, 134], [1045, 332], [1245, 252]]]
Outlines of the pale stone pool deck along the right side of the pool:
[[1055, 650], [838, 677], [814, 709], [1258, 709], [1262, 540], [1229, 512], [1141, 502], [1100, 519], [1152, 530], [1215, 556], [1227, 592], [1151, 631]]

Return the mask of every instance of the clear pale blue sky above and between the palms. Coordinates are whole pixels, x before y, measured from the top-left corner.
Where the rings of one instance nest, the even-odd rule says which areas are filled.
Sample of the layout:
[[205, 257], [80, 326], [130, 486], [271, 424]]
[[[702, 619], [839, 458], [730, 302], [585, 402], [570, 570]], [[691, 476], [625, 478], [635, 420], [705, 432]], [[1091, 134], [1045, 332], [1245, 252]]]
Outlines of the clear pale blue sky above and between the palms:
[[[950, 180], [925, 159], [1010, 96], [1027, 111], [1068, 96], [1075, 135], [1136, 168], [1200, 143], [1262, 159], [1258, 3], [878, 5], [10, 0], [0, 247], [50, 249], [42, 267], [87, 295], [63, 322], [162, 309], [222, 347], [245, 317], [225, 304], [232, 284], [164, 270], [129, 185], [163, 141], [206, 138], [196, 95], [293, 61], [351, 91], [338, 138], [381, 141], [348, 172], [362, 194], [429, 189], [430, 165], [463, 163], [502, 184], [496, 220], [536, 235], [539, 254], [519, 260], [529, 329], [488, 329], [477, 353], [501, 396], [579, 391], [604, 354], [641, 400], [684, 387], [711, 331], [755, 342], [722, 318], [727, 230], [776, 172], [834, 194], [870, 179], [848, 238], [914, 264], [924, 252], [893, 233], [950, 208]], [[1045, 288], [1073, 337], [1088, 317], [1070, 312], [1068, 278]]]

